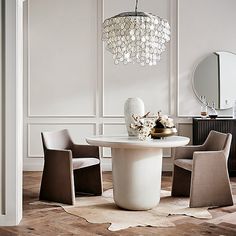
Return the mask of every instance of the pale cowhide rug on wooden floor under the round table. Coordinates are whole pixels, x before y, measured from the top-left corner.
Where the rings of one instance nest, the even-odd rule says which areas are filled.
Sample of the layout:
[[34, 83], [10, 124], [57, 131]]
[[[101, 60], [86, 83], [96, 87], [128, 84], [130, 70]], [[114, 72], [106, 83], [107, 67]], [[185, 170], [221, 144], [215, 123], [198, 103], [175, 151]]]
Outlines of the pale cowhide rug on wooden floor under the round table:
[[113, 201], [113, 191], [109, 189], [102, 196], [76, 198], [74, 206], [60, 203], [34, 202], [31, 204], [50, 204], [61, 206], [67, 213], [86, 219], [90, 223], [110, 223], [110, 231], [117, 231], [135, 226], [175, 226], [169, 215], [187, 215], [200, 219], [211, 219], [204, 208], [189, 208], [189, 198], [173, 198], [169, 191], [161, 191], [158, 206], [148, 211], [128, 211], [120, 209]]

